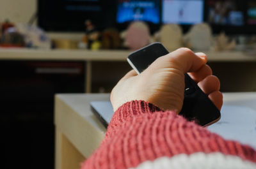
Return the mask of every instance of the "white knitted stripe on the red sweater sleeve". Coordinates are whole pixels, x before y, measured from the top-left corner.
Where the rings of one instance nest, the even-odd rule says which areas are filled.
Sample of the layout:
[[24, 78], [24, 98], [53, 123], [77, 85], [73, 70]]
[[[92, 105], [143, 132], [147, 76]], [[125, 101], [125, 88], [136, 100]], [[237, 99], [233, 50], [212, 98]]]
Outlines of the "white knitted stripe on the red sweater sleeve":
[[237, 156], [225, 156], [220, 152], [205, 154], [197, 152], [191, 155], [161, 157], [154, 161], [145, 161], [130, 169], [256, 169], [256, 163], [244, 161]]

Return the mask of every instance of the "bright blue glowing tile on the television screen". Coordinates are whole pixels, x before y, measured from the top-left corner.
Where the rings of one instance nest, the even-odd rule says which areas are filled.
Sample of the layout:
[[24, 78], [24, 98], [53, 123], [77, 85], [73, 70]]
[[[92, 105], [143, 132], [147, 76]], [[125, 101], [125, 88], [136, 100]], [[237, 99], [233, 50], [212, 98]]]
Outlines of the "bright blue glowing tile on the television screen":
[[134, 20], [159, 24], [160, 9], [158, 0], [124, 1], [118, 0], [116, 22], [124, 24]]

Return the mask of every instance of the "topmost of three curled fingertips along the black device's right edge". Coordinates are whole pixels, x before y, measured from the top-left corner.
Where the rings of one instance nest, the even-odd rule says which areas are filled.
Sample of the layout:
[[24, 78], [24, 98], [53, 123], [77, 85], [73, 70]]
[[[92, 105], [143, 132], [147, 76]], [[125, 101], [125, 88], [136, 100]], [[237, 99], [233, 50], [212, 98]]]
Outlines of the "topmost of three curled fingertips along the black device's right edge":
[[204, 80], [205, 77], [211, 76], [212, 75], [212, 70], [210, 66], [205, 64], [202, 66], [198, 71], [188, 73], [189, 76], [195, 81], [195, 82], [200, 82]]

